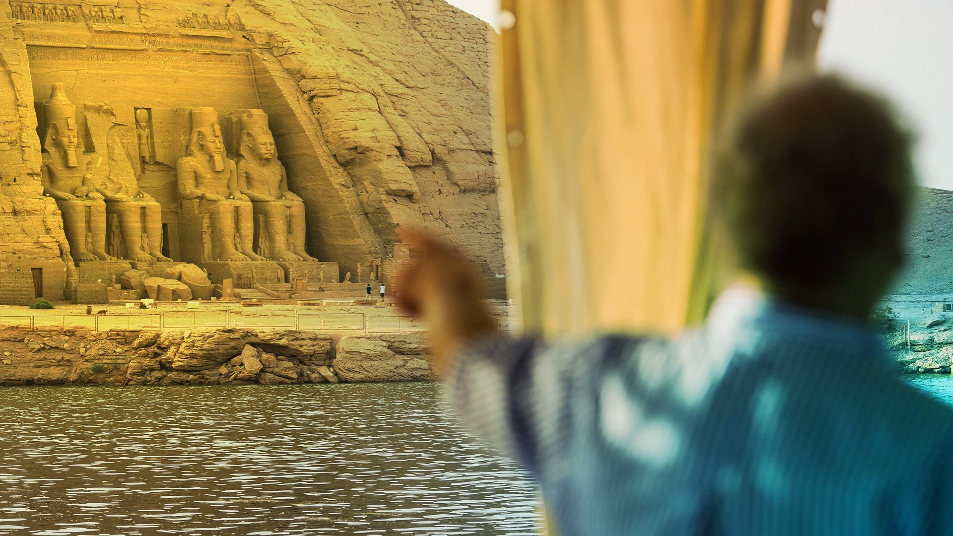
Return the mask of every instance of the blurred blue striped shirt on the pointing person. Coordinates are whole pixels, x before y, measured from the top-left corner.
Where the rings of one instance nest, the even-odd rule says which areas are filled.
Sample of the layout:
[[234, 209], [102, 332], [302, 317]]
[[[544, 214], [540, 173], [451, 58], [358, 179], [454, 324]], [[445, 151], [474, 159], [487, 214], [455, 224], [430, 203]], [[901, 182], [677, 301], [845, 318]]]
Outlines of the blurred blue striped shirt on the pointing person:
[[953, 409], [859, 322], [736, 287], [671, 340], [481, 340], [447, 379], [560, 536], [953, 534]]

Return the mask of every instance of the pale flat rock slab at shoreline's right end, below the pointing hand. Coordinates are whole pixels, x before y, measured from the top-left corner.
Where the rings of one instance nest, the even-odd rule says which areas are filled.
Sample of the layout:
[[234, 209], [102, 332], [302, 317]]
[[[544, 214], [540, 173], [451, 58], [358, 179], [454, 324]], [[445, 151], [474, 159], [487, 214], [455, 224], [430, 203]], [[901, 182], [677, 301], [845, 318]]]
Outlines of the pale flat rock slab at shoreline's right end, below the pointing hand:
[[419, 335], [344, 337], [337, 343], [335, 372], [343, 381], [431, 381]]

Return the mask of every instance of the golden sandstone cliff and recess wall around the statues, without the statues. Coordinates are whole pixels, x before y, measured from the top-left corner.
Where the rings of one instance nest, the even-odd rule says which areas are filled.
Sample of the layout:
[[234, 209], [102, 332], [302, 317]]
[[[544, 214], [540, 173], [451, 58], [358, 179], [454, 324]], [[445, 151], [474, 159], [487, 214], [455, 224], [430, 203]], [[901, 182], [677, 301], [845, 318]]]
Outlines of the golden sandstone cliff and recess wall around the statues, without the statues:
[[[0, 258], [8, 265], [51, 270], [52, 262], [65, 274], [57, 277], [72, 277], [62, 217], [42, 194], [34, 107], [61, 82], [80, 112], [83, 150], [103, 155], [91, 173], [135, 174], [129, 187], [162, 205], [172, 258], [176, 241], [202, 236], [166, 220], [188, 137], [177, 114], [212, 107], [226, 125], [234, 111], [262, 109], [289, 189], [305, 205], [308, 248], [341, 274], [358, 264], [366, 274], [391, 255], [395, 227], [406, 222], [502, 272], [489, 29], [476, 18], [442, 0], [149, 0], [105, 22], [82, 9], [30, 20], [17, 15], [20, 4], [0, 0]], [[181, 280], [198, 292], [201, 281]]]

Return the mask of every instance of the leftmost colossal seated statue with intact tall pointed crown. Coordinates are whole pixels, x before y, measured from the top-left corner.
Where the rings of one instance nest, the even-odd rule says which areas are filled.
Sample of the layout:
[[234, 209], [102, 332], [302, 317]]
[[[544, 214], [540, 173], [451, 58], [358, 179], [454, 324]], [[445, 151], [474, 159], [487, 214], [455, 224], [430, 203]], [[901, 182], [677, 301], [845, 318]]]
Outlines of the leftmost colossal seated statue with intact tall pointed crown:
[[76, 107], [62, 83], [43, 103], [43, 191], [56, 199], [76, 261], [111, 260], [106, 254], [106, 203], [92, 185], [90, 158], [78, 149]]

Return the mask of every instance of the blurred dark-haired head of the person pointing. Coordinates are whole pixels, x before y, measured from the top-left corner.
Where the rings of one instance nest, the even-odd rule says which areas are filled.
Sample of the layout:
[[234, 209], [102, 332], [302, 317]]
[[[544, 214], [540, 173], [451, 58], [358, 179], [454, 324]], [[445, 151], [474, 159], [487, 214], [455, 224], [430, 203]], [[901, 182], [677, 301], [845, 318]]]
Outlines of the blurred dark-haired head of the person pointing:
[[785, 84], [725, 140], [713, 200], [740, 269], [807, 307], [866, 317], [902, 266], [912, 135], [833, 75]]

